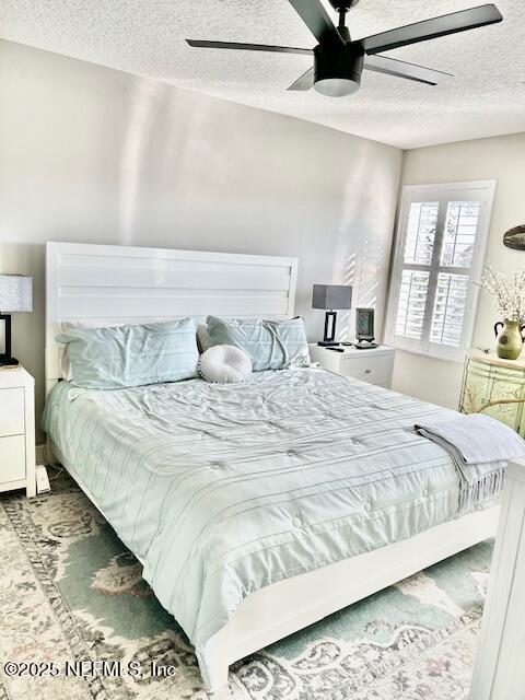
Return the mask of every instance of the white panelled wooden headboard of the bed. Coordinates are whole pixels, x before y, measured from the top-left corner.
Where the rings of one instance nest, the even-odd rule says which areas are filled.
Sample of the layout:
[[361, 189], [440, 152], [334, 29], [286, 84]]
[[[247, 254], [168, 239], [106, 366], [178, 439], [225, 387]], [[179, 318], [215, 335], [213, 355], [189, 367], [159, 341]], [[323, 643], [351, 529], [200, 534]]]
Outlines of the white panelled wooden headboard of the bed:
[[293, 316], [298, 259], [47, 243], [46, 389], [60, 378], [62, 320]]

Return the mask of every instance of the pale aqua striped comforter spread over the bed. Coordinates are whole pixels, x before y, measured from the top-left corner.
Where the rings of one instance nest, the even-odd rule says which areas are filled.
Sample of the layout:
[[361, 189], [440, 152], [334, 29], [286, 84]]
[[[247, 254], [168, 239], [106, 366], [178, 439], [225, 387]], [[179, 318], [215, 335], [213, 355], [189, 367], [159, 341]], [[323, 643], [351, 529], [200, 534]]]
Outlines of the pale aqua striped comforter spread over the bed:
[[452, 413], [308, 368], [61, 382], [43, 427], [199, 649], [258, 588], [464, 514], [451, 458], [413, 432]]

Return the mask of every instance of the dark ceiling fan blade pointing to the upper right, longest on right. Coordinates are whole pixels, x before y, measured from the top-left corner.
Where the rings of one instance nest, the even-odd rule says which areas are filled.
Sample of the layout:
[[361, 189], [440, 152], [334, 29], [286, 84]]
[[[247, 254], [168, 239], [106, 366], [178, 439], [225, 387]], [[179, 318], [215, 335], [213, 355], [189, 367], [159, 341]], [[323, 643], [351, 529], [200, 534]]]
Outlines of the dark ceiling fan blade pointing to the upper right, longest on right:
[[475, 30], [478, 26], [494, 24], [501, 22], [503, 16], [494, 4], [482, 4], [479, 8], [470, 8], [452, 14], [444, 14], [432, 20], [423, 20], [407, 26], [400, 26], [397, 30], [382, 32], [374, 36], [368, 36], [361, 39], [366, 54], [380, 54], [388, 51], [399, 46], [408, 44], [417, 44], [427, 39], [434, 39], [439, 36], [455, 34], [456, 32], [466, 32]]

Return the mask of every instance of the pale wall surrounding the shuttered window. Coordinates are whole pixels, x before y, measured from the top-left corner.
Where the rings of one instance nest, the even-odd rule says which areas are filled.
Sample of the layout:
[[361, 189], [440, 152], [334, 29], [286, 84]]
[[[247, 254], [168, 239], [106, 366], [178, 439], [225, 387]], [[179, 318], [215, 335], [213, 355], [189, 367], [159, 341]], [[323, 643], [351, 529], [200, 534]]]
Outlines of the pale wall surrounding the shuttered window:
[[[525, 266], [525, 252], [503, 245], [503, 233], [525, 223], [525, 133], [415, 149], [405, 154], [402, 185], [474, 179], [498, 180], [487, 259], [512, 273]], [[472, 346], [494, 347], [493, 326], [499, 318], [492, 300], [480, 294]], [[463, 365], [398, 352], [394, 388], [405, 394], [457, 408]]]

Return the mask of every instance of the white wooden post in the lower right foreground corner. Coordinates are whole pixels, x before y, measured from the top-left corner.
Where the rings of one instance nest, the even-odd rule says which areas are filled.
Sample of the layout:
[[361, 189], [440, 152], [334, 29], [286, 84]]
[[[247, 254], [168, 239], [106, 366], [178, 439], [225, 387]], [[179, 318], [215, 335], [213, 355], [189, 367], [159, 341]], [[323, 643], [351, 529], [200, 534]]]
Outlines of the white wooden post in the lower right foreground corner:
[[469, 700], [524, 697], [525, 460], [509, 464]]

